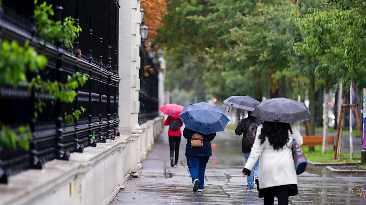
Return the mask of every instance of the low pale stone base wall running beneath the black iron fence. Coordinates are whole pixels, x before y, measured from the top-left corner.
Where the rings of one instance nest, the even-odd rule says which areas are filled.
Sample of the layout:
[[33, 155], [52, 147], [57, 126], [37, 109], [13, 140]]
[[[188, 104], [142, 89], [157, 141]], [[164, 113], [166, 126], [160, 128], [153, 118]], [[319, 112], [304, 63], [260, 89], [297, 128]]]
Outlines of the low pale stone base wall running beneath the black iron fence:
[[109, 204], [154, 139], [163, 131], [163, 117], [141, 125], [139, 133], [106, 140], [83, 153], [71, 153], [69, 161], [53, 160], [42, 170], [26, 170], [0, 184], [0, 205], [100, 205]]

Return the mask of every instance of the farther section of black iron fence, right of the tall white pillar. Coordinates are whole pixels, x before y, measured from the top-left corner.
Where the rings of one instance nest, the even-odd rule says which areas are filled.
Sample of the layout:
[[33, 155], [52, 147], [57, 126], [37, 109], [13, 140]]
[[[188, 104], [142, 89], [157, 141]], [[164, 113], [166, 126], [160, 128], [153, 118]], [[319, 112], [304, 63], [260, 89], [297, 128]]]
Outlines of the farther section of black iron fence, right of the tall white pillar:
[[[159, 99], [158, 99], [158, 65], [153, 62], [147, 55], [143, 43], [140, 48], [140, 112], [138, 115], [138, 123], [143, 124], [147, 120], [152, 120], [159, 116]], [[146, 70], [145, 70], [146, 68]]]

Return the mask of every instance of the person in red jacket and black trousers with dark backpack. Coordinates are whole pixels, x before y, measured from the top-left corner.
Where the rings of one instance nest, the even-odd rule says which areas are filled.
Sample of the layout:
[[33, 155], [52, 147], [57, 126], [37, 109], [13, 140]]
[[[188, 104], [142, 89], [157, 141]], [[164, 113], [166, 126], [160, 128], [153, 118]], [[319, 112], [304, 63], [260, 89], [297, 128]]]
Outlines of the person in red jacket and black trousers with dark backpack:
[[[183, 126], [183, 122], [179, 118], [176, 119], [171, 116], [168, 116], [168, 118], [164, 122], [164, 125], [169, 126], [168, 136], [169, 136], [169, 147], [170, 147], [170, 165], [172, 167], [178, 167], [180, 137], [182, 136], [180, 127]], [[175, 151], [175, 160], [173, 160], [174, 151]]]

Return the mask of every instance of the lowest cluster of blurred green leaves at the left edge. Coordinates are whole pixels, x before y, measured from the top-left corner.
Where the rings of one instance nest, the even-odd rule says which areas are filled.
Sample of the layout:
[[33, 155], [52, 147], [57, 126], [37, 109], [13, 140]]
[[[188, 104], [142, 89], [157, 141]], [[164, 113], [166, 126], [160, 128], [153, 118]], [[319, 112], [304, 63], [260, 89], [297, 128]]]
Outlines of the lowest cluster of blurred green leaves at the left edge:
[[17, 146], [20, 146], [25, 150], [29, 150], [29, 140], [32, 139], [33, 136], [29, 127], [20, 125], [17, 131], [12, 131], [9, 126], [1, 125], [0, 145], [3, 148], [15, 149]]

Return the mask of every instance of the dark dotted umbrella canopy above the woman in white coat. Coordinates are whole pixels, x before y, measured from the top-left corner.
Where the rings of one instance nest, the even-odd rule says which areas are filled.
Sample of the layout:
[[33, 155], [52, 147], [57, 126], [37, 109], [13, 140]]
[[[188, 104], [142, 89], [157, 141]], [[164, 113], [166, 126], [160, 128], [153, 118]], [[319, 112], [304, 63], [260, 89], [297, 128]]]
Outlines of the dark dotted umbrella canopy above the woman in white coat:
[[290, 124], [311, 119], [309, 109], [303, 102], [283, 97], [264, 100], [251, 116], [263, 121]]

